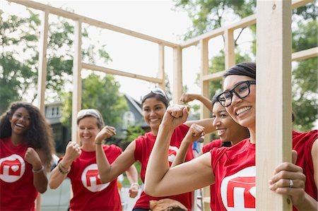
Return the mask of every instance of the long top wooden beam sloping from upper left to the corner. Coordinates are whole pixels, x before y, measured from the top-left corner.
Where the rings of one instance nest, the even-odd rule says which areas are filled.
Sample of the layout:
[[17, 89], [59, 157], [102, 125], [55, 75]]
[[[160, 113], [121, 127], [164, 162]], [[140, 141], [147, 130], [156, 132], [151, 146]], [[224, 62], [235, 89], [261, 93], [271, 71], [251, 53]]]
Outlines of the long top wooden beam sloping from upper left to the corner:
[[119, 32], [119, 33], [122, 33], [124, 35], [129, 35], [131, 37], [136, 37], [136, 38], [139, 38], [141, 40], [147, 40], [149, 42], [155, 42], [155, 43], [158, 43], [158, 44], [163, 44], [167, 47], [178, 47], [179, 45], [178, 44], [175, 44], [173, 42], [168, 42], [168, 41], [165, 41], [165, 40], [161, 40], [161, 39], [158, 39], [156, 37], [151, 37], [149, 35], [144, 35], [142, 33], [139, 33], [139, 32], [135, 32], [133, 30], [128, 30], [126, 28], [121, 28], [117, 25], [112, 25], [110, 23], [105, 23], [105, 22], [102, 22], [100, 20], [95, 20], [93, 18], [88, 18], [86, 16], [80, 16], [76, 13], [71, 13], [69, 11], [64, 11], [63, 9], [61, 8], [56, 8], [54, 6], [49, 6], [49, 5], [46, 5], [46, 4], [41, 4], [41, 3], [38, 3], [38, 2], [35, 2], [35, 1], [27, 1], [27, 0], [7, 0], [7, 1], [10, 1], [10, 2], [14, 2], [16, 4], [21, 4], [23, 6], [27, 6], [27, 7], [30, 7], [30, 8], [35, 8], [37, 10], [40, 10], [40, 11], [49, 11], [49, 13], [52, 13], [54, 15], [57, 15], [57, 16], [61, 16], [61, 17], [64, 17], [64, 18], [69, 18], [69, 19], [72, 19], [72, 20], [81, 20], [82, 23], [88, 23], [89, 25], [95, 25], [96, 27], [98, 28], [104, 28], [104, 29], [107, 29], [107, 30], [112, 30], [114, 32]]

